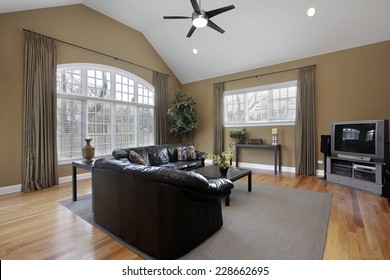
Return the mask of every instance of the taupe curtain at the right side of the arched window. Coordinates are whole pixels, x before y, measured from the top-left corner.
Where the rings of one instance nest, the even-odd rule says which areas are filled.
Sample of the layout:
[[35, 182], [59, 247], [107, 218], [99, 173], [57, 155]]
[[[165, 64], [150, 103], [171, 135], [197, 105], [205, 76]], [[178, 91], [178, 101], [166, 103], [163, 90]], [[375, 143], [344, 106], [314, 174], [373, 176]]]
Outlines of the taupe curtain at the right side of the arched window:
[[154, 94], [156, 96], [156, 106], [154, 112], [154, 141], [156, 145], [167, 143], [167, 94], [168, 94], [168, 75], [153, 72]]

